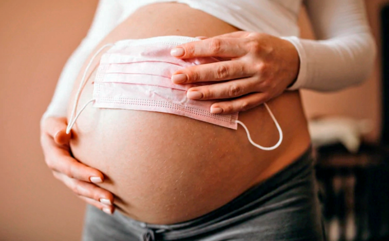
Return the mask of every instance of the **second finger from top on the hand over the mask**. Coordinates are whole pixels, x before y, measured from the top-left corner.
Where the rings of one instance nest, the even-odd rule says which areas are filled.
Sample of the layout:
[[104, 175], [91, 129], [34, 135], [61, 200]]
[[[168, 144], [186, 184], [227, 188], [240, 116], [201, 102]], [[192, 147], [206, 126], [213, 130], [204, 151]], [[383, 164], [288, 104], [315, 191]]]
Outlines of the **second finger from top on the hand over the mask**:
[[223, 61], [196, 65], [181, 69], [172, 75], [174, 84], [187, 84], [209, 81], [226, 81], [228, 79], [253, 76], [257, 71], [244, 61]]

